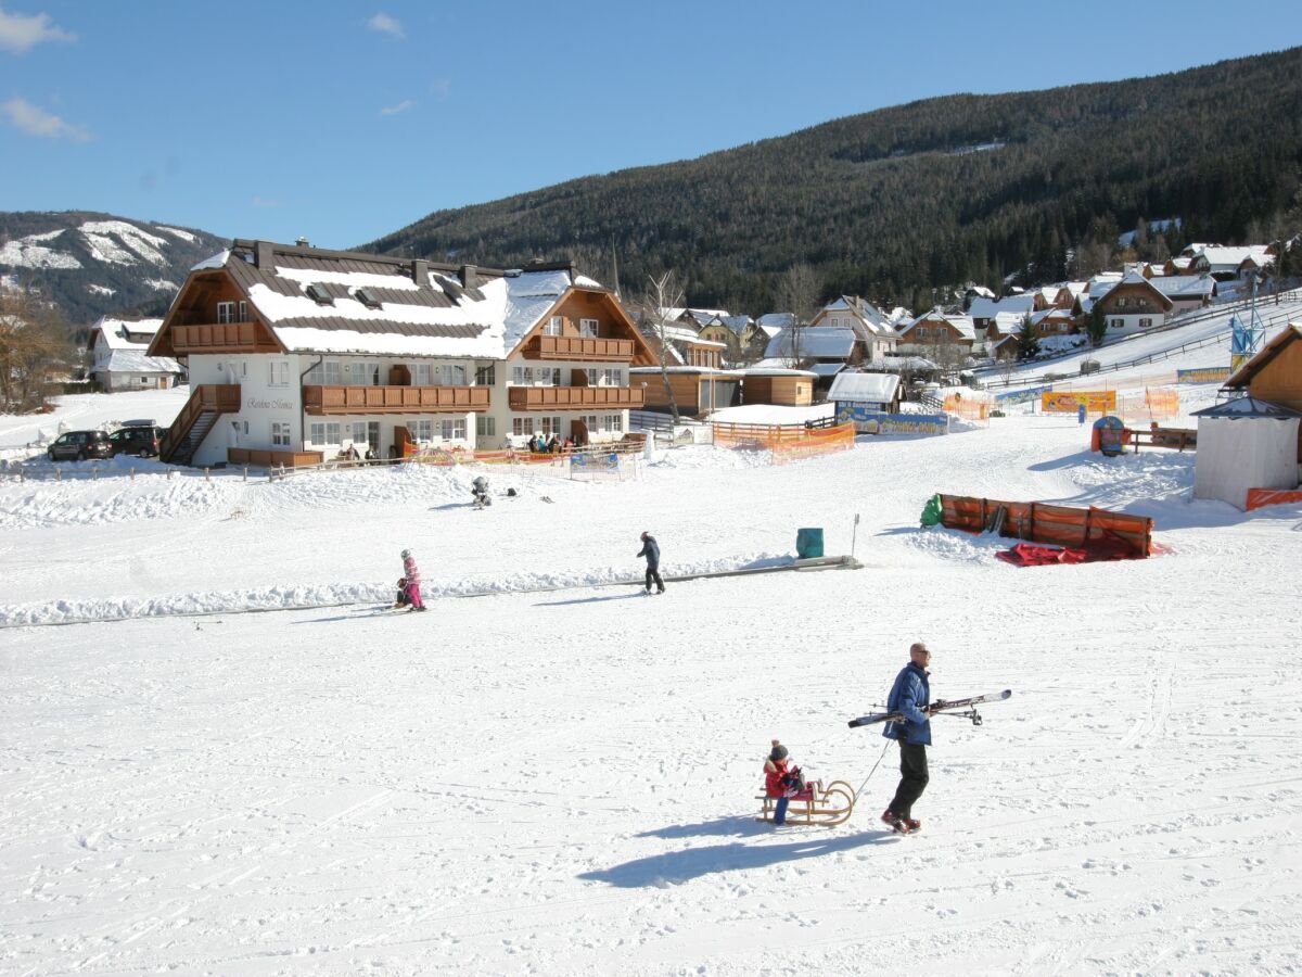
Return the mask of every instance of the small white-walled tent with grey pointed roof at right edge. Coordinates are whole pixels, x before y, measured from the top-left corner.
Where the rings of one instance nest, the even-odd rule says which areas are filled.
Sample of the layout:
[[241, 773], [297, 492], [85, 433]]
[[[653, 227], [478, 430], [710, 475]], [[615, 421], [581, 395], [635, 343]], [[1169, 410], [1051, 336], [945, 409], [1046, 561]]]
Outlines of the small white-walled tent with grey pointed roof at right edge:
[[1243, 509], [1249, 488], [1297, 486], [1302, 412], [1237, 397], [1193, 417], [1198, 418], [1195, 499], [1221, 499]]

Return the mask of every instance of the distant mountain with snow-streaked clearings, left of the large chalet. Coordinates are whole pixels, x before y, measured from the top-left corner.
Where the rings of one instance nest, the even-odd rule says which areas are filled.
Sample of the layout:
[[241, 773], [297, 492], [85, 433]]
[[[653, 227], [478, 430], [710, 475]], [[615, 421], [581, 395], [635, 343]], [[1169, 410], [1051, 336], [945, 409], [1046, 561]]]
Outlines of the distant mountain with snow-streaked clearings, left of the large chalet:
[[36, 288], [74, 327], [104, 314], [160, 315], [190, 267], [227, 238], [92, 211], [0, 212], [0, 277]]

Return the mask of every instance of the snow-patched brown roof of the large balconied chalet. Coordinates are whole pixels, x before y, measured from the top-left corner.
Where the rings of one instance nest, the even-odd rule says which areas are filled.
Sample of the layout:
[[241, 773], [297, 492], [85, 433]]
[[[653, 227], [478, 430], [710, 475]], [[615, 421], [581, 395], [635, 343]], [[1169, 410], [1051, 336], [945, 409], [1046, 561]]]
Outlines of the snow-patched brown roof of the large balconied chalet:
[[602, 288], [568, 264], [462, 281], [426, 262], [246, 241], [195, 267], [225, 268], [285, 348], [310, 353], [500, 360], [569, 288]]

